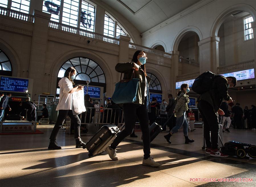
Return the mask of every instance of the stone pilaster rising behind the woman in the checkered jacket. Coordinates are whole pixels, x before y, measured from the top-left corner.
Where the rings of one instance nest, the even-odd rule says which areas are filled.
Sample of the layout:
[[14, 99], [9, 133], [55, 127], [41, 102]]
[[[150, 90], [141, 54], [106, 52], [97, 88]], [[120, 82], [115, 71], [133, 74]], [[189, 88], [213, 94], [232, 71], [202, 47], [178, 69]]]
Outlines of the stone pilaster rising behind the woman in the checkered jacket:
[[177, 81], [177, 76], [179, 75], [179, 70], [181, 69], [181, 66], [179, 65], [179, 51], [171, 51], [171, 59], [172, 59], [172, 65], [171, 65], [171, 94], [173, 97], [176, 96], [176, 89], [175, 89], [175, 83]]

